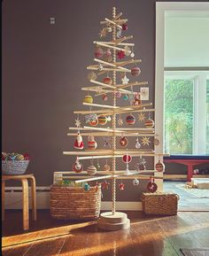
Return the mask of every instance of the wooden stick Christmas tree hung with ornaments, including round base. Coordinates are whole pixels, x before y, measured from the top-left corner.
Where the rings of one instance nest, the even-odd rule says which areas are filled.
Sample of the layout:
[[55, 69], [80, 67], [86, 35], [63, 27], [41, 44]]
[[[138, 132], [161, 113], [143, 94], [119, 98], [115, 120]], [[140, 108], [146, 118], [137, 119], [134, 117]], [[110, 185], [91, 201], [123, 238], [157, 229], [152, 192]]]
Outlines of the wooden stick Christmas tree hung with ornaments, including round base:
[[[152, 149], [147, 149], [147, 146], [150, 146], [151, 143], [152, 145], [159, 144], [158, 136], [155, 134], [154, 121], [150, 117], [150, 113], [155, 110], [151, 108], [151, 103], [143, 104], [144, 92], [140, 90], [140, 87], [148, 86], [148, 81], [130, 81], [130, 79], [140, 77], [141, 69], [136, 65], [141, 63], [141, 59], [134, 58], [135, 44], [127, 43], [133, 36], [126, 35], [128, 19], [121, 19], [121, 14], [116, 14], [116, 8], [113, 7], [112, 18], [105, 18], [104, 21], [100, 22], [103, 26], [99, 33], [101, 40], [105, 37], [110, 38], [110, 35], [112, 38], [109, 41], [93, 42], [95, 44], [94, 61], [96, 64], [87, 66], [88, 79], [93, 85], [81, 88], [87, 91], [82, 104], [89, 106], [90, 109], [74, 111], [75, 114], [84, 116], [86, 125], [81, 127], [79, 117], [75, 120], [76, 127], [70, 129], [78, 130], [78, 133], [68, 133], [67, 135], [76, 136], [74, 148], [78, 151], [63, 152], [65, 155], [76, 156], [73, 166], [75, 173], [83, 172], [82, 160], [112, 160], [112, 167], [106, 164], [104, 171], [99, 172], [97, 172], [97, 167], [91, 163], [86, 169], [88, 177], [75, 181], [75, 183], [107, 179], [112, 181], [112, 211], [102, 213], [98, 220], [98, 226], [101, 229], [109, 230], [128, 229], [130, 225], [127, 214], [116, 211], [116, 180], [124, 176], [132, 177], [134, 184], [138, 185], [138, 179], [147, 179], [149, 181], [147, 189], [154, 192], [157, 190], [157, 185], [152, 178], [162, 178], [162, 176], [154, 176], [154, 173], [164, 170], [164, 165], [160, 160], [155, 170], [146, 170], [145, 168], [143, 157], [156, 156], [153, 146]], [[128, 66], [132, 66], [132, 68], [128, 68]], [[146, 90], [144, 91], [146, 92]], [[94, 97], [90, 96], [90, 93], [94, 93]], [[117, 105], [118, 99], [121, 100], [121, 97], [127, 105]], [[112, 99], [112, 105], [99, 103], [108, 98]], [[148, 118], [146, 118], [147, 114], [149, 115]], [[126, 115], [125, 120], [122, 119], [124, 115]], [[135, 115], [138, 116], [138, 120], [135, 120]], [[143, 128], [135, 127], [138, 121], [144, 123]], [[124, 126], [128, 126], [128, 128]], [[83, 136], [88, 136], [88, 144], [83, 144]], [[105, 144], [102, 146], [97, 144], [97, 137], [109, 138], [105, 143], [110, 147], [102, 149]], [[136, 137], [135, 149], [127, 148], [129, 137]], [[110, 138], [112, 143], [110, 143]], [[117, 139], [122, 149], [117, 149]], [[158, 155], [163, 156], [163, 154]], [[135, 157], [140, 157], [139, 163], [135, 166], [134, 171], [130, 171], [128, 163]], [[118, 158], [125, 163], [125, 170], [117, 169], [116, 159]], [[97, 173], [101, 175], [91, 177]], [[88, 187], [86, 189], [88, 190]], [[123, 189], [124, 184], [121, 182], [120, 190]]]

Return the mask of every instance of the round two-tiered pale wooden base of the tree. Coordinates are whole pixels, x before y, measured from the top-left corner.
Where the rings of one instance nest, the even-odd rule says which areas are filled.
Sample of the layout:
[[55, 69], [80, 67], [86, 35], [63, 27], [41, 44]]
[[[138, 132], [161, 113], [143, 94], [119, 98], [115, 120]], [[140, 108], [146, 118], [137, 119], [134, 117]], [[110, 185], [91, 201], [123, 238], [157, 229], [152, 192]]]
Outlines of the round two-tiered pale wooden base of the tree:
[[105, 230], [128, 229], [130, 227], [130, 220], [126, 213], [101, 213], [100, 218], [97, 221], [97, 226], [99, 229]]

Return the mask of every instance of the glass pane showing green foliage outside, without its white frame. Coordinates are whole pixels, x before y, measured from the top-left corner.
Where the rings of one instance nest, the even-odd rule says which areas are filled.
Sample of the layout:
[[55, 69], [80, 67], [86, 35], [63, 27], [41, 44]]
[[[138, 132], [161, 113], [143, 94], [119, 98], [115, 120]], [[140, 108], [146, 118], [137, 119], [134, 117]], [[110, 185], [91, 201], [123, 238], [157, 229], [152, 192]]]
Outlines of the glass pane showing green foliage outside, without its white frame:
[[166, 79], [165, 151], [192, 154], [193, 80]]

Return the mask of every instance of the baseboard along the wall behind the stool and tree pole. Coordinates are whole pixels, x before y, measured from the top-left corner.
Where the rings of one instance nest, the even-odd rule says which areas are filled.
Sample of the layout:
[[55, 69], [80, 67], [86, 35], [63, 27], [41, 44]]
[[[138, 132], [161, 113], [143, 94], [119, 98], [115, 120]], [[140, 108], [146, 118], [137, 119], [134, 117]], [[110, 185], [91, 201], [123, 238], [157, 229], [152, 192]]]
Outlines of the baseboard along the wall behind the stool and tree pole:
[[[36, 188], [37, 209], [50, 209], [50, 187]], [[30, 188], [29, 206], [31, 208]], [[5, 209], [22, 209], [22, 188], [5, 188]], [[142, 211], [142, 202], [116, 202], [117, 211]], [[112, 201], [102, 201], [101, 210], [111, 211]]]

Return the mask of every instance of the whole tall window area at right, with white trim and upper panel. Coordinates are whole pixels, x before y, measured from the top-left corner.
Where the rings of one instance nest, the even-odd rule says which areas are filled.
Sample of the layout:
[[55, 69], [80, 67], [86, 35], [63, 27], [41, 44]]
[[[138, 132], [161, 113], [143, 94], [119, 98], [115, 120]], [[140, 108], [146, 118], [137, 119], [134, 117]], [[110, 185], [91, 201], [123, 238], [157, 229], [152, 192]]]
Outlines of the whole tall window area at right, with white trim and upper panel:
[[156, 151], [209, 155], [209, 3], [156, 3]]

